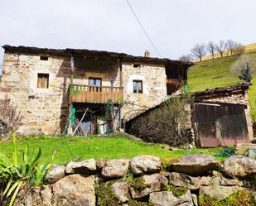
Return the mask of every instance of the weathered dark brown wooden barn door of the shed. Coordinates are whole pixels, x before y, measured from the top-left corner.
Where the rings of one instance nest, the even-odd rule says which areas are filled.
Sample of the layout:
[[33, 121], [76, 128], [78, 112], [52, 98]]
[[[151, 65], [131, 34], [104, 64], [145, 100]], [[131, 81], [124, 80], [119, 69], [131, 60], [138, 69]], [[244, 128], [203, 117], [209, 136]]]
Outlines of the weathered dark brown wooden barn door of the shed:
[[244, 105], [195, 103], [193, 121], [198, 146], [231, 146], [249, 141]]

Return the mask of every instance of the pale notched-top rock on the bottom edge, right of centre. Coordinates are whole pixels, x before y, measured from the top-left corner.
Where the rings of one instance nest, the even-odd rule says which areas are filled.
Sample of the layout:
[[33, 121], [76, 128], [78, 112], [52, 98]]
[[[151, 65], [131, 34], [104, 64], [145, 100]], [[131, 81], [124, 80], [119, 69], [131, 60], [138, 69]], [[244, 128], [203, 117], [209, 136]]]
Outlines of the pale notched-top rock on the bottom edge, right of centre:
[[155, 206], [193, 206], [189, 190], [180, 197], [174, 196], [171, 191], [154, 192], [149, 197], [149, 200]]

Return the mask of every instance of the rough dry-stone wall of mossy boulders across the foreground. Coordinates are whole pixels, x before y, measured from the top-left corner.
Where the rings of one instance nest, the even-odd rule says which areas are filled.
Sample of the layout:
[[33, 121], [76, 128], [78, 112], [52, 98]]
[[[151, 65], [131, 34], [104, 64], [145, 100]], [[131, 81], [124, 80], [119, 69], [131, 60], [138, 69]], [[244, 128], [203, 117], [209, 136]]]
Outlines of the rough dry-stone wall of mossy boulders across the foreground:
[[55, 165], [46, 185], [27, 192], [25, 198], [19, 194], [15, 205], [198, 206], [211, 205], [210, 199], [215, 205], [232, 194], [226, 204], [254, 205], [256, 191], [248, 184], [254, 175], [256, 160], [245, 156], [229, 157], [223, 164], [209, 155], [169, 161], [155, 156], [71, 161]]

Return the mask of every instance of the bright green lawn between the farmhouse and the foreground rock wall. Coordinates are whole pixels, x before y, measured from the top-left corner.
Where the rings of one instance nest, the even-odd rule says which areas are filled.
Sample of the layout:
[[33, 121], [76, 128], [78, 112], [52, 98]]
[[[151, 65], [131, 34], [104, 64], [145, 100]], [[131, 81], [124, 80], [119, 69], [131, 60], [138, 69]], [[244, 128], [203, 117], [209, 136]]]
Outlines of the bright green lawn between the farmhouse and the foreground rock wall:
[[[165, 145], [148, 144], [139, 140], [124, 137], [33, 137], [17, 141], [17, 150], [21, 151], [28, 145], [31, 149], [41, 147], [41, 162], [51, 160], [56, 148], [56, 164], [65, 164], [70, 160], [132, 158], [138, 155], [158, 156], [162, 159], [172, 159], [194, 153], [215, 154], [222, 148], [198, 149], [192, 151], [178, 149], [169, 151]], [[12, 142], [0, 142], [0, 152], [12, 159]]]

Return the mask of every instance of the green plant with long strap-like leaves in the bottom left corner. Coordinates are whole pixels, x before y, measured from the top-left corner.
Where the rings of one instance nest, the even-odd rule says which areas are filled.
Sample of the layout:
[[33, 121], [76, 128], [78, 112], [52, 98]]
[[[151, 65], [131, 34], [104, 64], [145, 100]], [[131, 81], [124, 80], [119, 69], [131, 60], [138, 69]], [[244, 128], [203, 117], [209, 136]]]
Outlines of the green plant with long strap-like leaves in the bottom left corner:
[[52, 162], [56, 151], [51, 157], [51, 163], [39, 166], [41, 157], [41, 148], [37, 152], [31, 151], [26, 146], [22, 154], [17, 153], [16, 134], [12, 134], [13, 138], [13, 162], [7, 156], [0, 153], [0, 180], [5, 180], [7, 185], [2, 193], [2, 197], [10, 199], [11, 206], [20, 189], [25, 187], [38, 187], [43, 183], [49, 170], [51, 170]]

